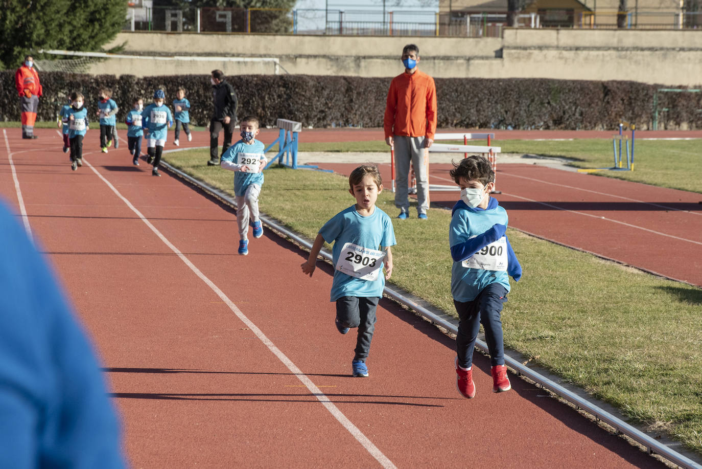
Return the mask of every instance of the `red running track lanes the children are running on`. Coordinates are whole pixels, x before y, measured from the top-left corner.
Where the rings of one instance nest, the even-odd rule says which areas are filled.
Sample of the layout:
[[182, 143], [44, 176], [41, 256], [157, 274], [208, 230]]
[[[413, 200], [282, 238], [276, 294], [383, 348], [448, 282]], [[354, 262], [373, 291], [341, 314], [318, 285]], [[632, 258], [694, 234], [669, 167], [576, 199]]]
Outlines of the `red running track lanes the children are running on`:
[[493, 394], [479, 354], [477, 397], [461, 398], [453, 340], [388, 300], [371, 377], [350, 378], [329, 266], [303, 276], [306, 253], [270, 231], [238, 256], [230, 208], [124, 148], [98, 153], [94, 131], [72, 172], [58, 134], [37, 133], [3, 132], [0, 194], [18, 208], [14, 171], [102, 356], [132, 467], [663, 467], [515, 376]]

